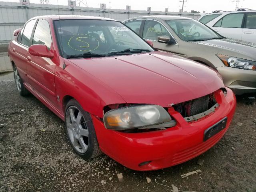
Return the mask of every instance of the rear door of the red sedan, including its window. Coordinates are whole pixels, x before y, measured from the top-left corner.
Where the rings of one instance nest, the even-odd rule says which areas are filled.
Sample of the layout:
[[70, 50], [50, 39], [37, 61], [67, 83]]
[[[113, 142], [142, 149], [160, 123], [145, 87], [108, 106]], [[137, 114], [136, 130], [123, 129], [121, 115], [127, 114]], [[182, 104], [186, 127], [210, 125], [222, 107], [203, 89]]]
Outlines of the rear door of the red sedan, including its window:
[[13, 61], [23, 82], [27, 82], [27, 52], [35, 24], [36, 19], [29, 21], [18, 34], [17, 41], [13, 41], [12, 45]]

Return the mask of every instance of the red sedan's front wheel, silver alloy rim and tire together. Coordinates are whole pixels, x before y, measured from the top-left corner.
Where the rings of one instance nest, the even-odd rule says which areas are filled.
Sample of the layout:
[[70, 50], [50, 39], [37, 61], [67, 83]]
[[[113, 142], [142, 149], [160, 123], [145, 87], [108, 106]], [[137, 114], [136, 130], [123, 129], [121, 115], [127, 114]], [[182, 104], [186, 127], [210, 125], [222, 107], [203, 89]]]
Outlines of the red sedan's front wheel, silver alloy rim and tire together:
[[66, 104], [65, 125], [68, 140], [76, 154], [85, 160], [102, 154], [90, 114], [74, 99]]

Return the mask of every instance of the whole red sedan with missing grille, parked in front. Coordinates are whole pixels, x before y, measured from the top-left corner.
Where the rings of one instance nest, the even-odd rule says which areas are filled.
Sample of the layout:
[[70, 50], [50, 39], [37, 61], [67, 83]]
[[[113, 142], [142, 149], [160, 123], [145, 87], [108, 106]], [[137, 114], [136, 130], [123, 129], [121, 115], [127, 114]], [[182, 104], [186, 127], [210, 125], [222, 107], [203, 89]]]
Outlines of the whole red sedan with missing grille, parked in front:
[[215, 70], [154, 50], [121, 22], [40, 16], [14, 36], [18, 92], [64, 120], [85, 159], [103, 152], [134, 170], [166, 168], [204, 153], [230, 126], [236, 99]]

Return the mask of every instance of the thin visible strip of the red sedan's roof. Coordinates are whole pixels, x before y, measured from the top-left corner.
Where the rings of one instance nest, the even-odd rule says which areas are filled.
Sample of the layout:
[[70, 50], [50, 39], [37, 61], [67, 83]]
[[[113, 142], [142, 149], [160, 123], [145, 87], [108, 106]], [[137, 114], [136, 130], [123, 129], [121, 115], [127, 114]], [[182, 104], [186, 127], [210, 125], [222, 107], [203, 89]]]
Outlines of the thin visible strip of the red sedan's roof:
[[83, 15], [43, 15], [36, 16], [31, 19], [51, 19], [51, 20], [67, 20], [67, 19], [91, 19], [91, 20], [110, 20], [116, 21], [114, 19], [105, 18], [105, 17], [94, 17], [94, 16], [83, 16]]

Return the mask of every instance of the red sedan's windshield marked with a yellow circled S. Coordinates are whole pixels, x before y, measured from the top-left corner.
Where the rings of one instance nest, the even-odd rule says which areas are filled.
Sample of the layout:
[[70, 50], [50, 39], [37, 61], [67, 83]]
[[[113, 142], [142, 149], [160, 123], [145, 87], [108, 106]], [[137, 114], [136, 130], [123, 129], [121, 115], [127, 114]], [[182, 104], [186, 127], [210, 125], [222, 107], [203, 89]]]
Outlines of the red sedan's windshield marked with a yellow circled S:
[[154, 51], [120, 22], [56, 20], [55, 32], [65, 58], [112, 56]]

